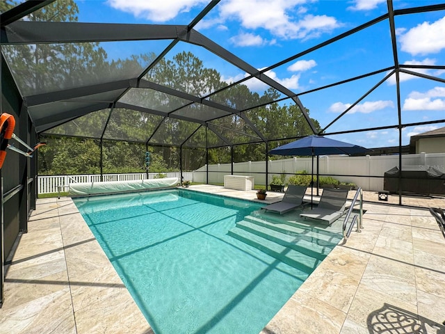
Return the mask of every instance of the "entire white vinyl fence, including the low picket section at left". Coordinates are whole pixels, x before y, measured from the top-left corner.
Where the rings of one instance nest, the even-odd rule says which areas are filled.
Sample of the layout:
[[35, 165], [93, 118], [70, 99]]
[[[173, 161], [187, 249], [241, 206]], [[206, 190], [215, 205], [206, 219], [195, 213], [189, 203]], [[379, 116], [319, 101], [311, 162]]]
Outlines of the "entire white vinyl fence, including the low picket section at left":
[[[317, 159], [314, 159], [314, 174], [317, 170]], [[363, 190], [382, 191], [384, 174], [387, 170], [398, 166], [398, 155], [347, 157], [347, 156], [323, 156], [318, 159], [318, 173], [320, 175], [331, 175], [337, 180], [346, 183], [355, 183]], [[445, 153], [420, 153], [402, 155], [402, 169], [404, 170], [426, 170], [434, 167], [445, 173]], [[191, 182], [206, 183], [207, 175], [210, 184], [223, 184], [224, 175], [230, 175], [232, 168], [230, 164], [209, 165], [193, 172], [183, 172], [184, 180]], [[268, 161], [268, 184], [272, 175], [286, 173], [289, 179], [298, 171], [306, 170], [312, 172], [312, 159], [289, 158]], [[247, 161], [233, 164], [234, 175], [244, 175], [254, 177], [254, 184], [266, 184], [266, 163], [265, 161]], [[181, 178], [181, 173], [163, 173], [165, 177]], [[159, 173], [149, 173], [148, 178], [159, 177]], [[104, 174], [103, 181], [131, 181], [144, 180], [146, 173], [129, 174]], [[56, 175], [39, 176], [39, 193], [57, 193], [58, 186], [67, 186], [72, 182], [99, 182], [100, 175]]]

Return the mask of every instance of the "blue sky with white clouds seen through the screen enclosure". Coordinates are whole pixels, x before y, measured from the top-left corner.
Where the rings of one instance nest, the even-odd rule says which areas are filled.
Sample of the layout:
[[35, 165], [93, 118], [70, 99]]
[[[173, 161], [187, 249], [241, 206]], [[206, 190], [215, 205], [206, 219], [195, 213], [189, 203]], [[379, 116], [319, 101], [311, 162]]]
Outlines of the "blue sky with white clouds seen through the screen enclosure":
[[[188, 24], [207, 6], [201, 0], [77, 0], [79, 22], [138, 24]], [[429, 6], [443, 1], [394, 1], [394, 9]], [[385, 0], [223, 0], [195, 29], [258, 69], [283, 61], [321, 42], [387, 13]], [[436, 11], [396, 17], [399, 63], [445, 65], [445, 12]], [[169, 41], [102, 43], [108, 54], [125, 58], [130, 53], [160, 52]], [[124, 46], [124, 47], [123, 47]], [[209, 51], [179, 43], [168, 56], [193, 51], [207, 67], [233, 82], [245, 72]], [[117, 57], [117, 56], [116, 56]], [[294, 93], [302, 93], [337, 81], [394, 65], [389, 22], [375, 24], [364, 31], [305, 54], [276, 67], [268, 76]], [[412, 70], [444, 79], [444, 70]], [[372, 92], [387, 72], [346, 85], [302, 94], [300, 100], [322, 127], [329, 125], [348, 106], [368, 94], [326, 132], [384, 127], [398, 122], [394, 75]], [[257, 80], [246, 81], [251, 90], [266, 89]], [[284, 102], [289, 104], [290, 102]], [[441, 120], [445, 111], [445, 85], [403, 74], [401, 76], [401, 118], [403, 123]], [[402, 144], [410, 136], [426, 132], [443, 123], [403, 129]], [[368, 148], [398, 145], [398, 131], [385, 129], [337, 135]]]

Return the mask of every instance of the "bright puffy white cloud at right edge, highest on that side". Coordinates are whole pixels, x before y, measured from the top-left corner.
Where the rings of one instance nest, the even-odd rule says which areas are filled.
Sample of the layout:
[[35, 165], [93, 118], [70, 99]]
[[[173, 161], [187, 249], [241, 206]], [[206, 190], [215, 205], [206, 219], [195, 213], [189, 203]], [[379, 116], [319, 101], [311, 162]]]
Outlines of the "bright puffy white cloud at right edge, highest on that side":
[[399, 38], [402, 51], [409, 54], [437, 54], [445, 48], [445, 17], [436, 22], [423, 22]]

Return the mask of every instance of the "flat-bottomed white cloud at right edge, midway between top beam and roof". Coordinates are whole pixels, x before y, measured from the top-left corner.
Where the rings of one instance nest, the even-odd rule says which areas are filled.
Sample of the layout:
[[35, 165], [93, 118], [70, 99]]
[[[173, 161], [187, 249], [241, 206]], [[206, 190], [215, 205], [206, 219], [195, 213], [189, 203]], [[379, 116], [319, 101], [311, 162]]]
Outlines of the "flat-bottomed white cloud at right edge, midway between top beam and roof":
[[435, 87], [426, 93], [413, 91], [403, 102], [404, 111], [408, 110], [445, 110], [445, 87]]

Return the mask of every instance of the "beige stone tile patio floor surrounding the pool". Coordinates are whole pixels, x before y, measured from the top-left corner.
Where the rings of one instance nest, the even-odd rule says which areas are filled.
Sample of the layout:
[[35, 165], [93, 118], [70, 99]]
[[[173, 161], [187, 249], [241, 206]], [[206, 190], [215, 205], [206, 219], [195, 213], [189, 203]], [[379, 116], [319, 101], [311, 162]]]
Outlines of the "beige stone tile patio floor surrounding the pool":
[[[445, 239], [434, 218], [378, 202], [364, 209], [364, 230], [332, 250], [261, 334], [445, 333]], [[38, 200], [4, 288], [0, 334], [153, 333], [71, 198]]]

